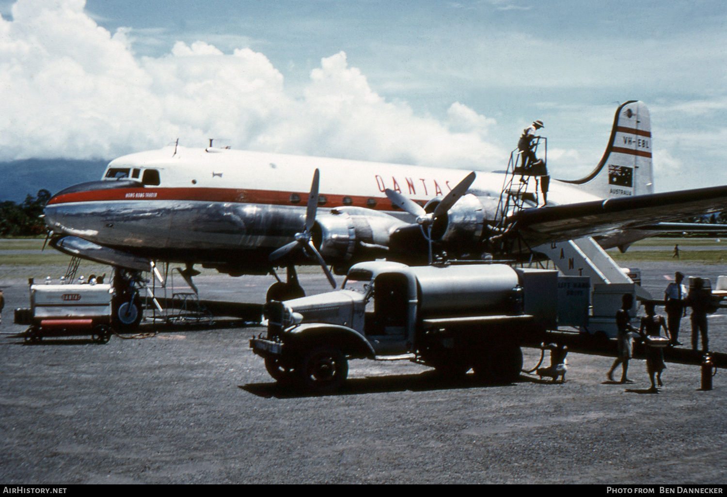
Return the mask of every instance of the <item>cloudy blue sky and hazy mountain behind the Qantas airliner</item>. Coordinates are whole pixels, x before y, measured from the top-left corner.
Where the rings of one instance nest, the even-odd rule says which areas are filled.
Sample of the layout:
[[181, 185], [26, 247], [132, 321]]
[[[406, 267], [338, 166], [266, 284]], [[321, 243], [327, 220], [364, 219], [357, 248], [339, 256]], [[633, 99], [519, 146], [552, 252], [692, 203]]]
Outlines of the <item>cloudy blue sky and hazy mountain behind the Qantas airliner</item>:
[[[50, 190], [177, 139], [501, 170], [535, 119], [553, 177], [577, 179], [627, 100], [651, 111], [656, 191], [727, 184], [724, 1], [0, 0], [0, 15], [0, 172]], [[24, 198], [6, 185], [0, 201]]]

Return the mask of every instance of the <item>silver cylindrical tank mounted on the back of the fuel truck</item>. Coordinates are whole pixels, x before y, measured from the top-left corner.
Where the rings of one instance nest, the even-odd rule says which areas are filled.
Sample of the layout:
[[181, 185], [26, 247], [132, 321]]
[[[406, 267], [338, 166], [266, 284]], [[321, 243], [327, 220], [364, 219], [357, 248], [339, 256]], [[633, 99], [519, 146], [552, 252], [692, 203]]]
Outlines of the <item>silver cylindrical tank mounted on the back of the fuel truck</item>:
[[[505, 264], [411, 267], [419, 286], [419, 313], [512, 314], [518, 273]], [[521, 297], [520, 297], [521, 298]]]

